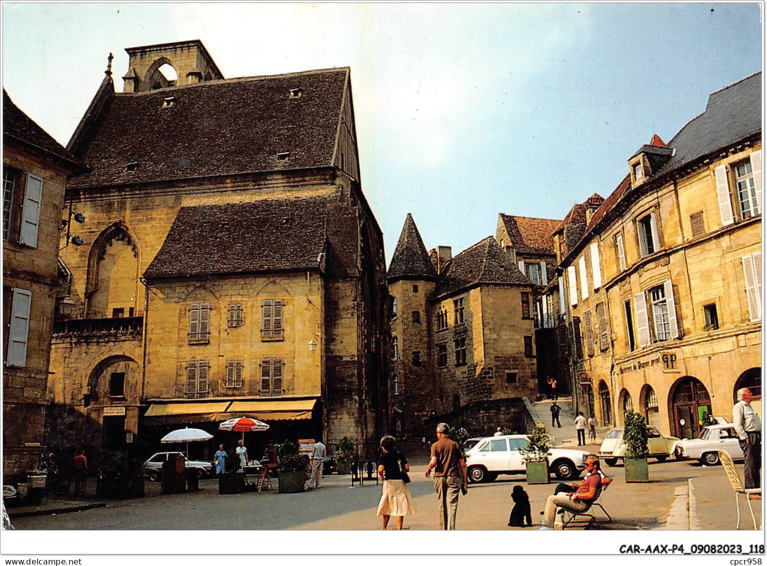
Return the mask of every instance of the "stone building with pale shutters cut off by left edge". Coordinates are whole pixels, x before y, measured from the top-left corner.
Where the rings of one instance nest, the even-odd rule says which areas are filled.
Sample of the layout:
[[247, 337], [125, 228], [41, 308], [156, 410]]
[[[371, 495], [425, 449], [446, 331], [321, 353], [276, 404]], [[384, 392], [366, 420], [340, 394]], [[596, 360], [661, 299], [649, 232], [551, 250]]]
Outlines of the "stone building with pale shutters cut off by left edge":
[[3, 484], [38, 467], [64, 184], [83, 165], [3, 91]]

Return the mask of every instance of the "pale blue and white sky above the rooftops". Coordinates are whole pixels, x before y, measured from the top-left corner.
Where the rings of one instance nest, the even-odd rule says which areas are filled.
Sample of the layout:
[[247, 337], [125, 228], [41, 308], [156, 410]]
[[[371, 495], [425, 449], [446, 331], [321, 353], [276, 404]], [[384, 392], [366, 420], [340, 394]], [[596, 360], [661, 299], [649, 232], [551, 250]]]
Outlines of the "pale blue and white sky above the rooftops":
[[607, 197], [653, 131], [761, 70], [760, 5], [5, 4], [3, 85], [66, 144], [113, 52], [199, 38], [226, 78], [350, 66], [364, 192], [457, 253]]

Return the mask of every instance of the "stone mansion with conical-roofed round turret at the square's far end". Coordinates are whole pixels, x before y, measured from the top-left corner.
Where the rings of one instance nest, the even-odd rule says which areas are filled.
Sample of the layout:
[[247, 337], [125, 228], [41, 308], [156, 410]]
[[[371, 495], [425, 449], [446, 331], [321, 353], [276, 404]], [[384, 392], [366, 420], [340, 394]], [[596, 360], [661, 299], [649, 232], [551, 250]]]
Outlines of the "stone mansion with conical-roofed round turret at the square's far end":
[[427, 253], [408, 214], [388, 281], [395, 432], [420, 439], [439, 420], [477, 435], [498, 425], [524, 431], [522, 398], [538, 395], [535, 284], [512, 247], [488, 237], [455, 257], [445, 246]]

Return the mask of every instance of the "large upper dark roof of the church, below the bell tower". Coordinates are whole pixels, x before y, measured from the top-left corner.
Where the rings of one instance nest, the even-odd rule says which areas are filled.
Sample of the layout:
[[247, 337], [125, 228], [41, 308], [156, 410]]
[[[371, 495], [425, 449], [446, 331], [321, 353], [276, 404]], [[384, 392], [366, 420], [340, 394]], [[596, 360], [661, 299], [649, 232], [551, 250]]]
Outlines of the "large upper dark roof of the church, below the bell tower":
[[70, 142], [92, 170], [71, 186], [330, 166], [348, 76], [337, 68], [110, 93], [85, 139]]

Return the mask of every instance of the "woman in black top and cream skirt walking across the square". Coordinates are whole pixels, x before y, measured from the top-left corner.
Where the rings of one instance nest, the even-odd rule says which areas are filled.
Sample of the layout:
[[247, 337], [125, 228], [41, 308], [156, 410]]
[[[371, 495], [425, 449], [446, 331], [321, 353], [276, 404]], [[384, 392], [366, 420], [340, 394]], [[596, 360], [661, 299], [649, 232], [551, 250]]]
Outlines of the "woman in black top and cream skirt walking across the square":
[[378, 503], [378, 515], [381, 516], [381, 528], [384, 531], [392, 515], [397, 517], [397, 531], [401, 531], [405, 515], [416, 514], [410, 489], [403, 480], [407, 472], [410, 472], [410, 464], [394, 445], [394, 437], [384, 436], [381, 439], [381, 456], [378, 462], [378, 475], [384, 481], [384, 493]]

